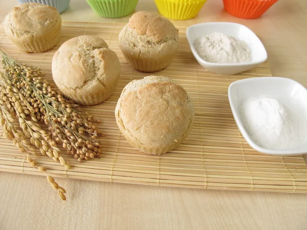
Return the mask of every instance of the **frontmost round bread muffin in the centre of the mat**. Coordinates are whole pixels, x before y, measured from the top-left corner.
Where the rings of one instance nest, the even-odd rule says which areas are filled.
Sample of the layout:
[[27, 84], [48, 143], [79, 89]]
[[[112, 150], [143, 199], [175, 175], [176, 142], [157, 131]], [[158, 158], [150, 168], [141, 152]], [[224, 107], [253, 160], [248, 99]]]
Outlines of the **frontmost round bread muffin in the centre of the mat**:
[[117, 125], [126, 140], [141, 152], [162, 154], [188, 135], [194, 106], [186, 90], [164, 76], [131, 81], [115, 109]]

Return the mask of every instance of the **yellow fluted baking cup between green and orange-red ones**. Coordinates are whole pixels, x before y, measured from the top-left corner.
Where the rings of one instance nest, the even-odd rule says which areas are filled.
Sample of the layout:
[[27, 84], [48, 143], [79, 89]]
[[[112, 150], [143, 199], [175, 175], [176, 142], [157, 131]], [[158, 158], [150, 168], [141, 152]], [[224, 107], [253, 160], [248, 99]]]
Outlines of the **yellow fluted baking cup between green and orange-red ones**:
[[195, 17], [207, 0], [155, 0], [160, 14], [175, 20]]

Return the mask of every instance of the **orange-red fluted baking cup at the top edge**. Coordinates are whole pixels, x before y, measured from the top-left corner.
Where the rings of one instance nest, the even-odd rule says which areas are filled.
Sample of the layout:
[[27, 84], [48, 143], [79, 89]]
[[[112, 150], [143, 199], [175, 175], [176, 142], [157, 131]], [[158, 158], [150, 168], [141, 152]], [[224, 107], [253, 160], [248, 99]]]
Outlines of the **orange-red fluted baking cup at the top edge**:
[[225, 10], [235, 17], [254, 19], [264, 14], [278, 0], [223, 0]]

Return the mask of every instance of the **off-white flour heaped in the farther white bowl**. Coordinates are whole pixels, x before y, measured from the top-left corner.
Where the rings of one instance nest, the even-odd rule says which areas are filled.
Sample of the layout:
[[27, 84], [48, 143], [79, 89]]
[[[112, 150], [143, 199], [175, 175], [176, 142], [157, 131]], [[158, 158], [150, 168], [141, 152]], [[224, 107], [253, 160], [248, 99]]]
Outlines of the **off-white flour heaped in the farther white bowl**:
[[215, 63], [244, 63], [251, 61], [251, 51], [244, 41], [215, 32], [194, 41], [202, 59]]

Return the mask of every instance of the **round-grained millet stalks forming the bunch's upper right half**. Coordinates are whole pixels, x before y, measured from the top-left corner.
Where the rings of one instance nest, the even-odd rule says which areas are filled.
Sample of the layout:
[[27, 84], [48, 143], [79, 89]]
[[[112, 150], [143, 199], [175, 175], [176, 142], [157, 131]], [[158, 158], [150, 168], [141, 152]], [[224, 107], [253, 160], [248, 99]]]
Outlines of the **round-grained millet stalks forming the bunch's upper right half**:
[[[36, 120], [49, 126], [52, 141], [62, 144], [79, 163], [83, 159], [100, 157], [101, 147], [97, 141], [100, 131], [93, 124], [99, 121], [80, 111], [58, 89], [42, 80], [39, 68], [21, 64], [1, 50], [0, 53], [5, 67], [5, 81], [24, 96]], [[63, 158], [59, 159], [62, 163]]]

